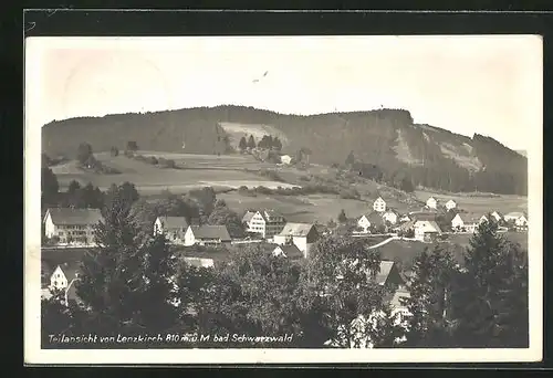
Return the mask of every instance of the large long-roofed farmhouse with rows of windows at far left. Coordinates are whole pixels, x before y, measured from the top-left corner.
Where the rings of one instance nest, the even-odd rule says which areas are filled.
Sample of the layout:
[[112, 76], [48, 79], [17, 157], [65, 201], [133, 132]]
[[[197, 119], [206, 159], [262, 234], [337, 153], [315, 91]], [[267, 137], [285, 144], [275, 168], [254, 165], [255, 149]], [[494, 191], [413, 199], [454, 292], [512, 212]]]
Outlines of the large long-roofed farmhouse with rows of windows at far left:
[[94, 225], [102, 220], [98, 209], [51, 208], [44, 216], [44, 235], [59, 244], [91, 245]]

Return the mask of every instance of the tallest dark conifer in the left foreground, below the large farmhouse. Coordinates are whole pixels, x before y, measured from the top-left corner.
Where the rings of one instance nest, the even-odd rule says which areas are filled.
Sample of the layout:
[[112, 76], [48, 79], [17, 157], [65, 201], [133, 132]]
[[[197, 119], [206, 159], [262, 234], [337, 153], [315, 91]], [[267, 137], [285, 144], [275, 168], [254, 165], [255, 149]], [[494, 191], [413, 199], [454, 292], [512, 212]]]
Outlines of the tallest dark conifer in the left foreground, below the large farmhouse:
[[95, 230], [98, 248], [84, 256], [75, 284], [87, 309], [81, 325], [104, 335], [168, 330], [178, 316], [175, 256], [165, 237], [139, 232], [129, 186], [112, 188], [108, 197]]

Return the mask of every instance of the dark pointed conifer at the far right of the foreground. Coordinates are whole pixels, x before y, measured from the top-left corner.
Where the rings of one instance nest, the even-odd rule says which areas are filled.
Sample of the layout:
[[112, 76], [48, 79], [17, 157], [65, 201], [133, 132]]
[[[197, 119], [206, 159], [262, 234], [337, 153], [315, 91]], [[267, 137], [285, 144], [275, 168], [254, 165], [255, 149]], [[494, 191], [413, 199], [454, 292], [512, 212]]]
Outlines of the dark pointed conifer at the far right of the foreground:
[[482, 222], [465, 256], [455, 304], [461, 347], [528, 347], [526, 253]]

